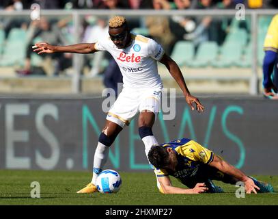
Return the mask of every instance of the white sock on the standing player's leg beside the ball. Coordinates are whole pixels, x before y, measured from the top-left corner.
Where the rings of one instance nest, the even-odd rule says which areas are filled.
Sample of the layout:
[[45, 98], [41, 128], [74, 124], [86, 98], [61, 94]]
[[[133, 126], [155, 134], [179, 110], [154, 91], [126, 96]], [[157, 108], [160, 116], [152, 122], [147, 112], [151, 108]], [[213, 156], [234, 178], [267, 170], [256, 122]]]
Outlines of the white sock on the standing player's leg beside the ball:
[[103, 166], [105, 166], [105, 163], [107, 162], [108, 155], [109, 146], [105, 146], [105, 144], [98, 142], [98, 146], [96, 146], [96, 151], [94, 153], [94, 170], [91, 182], [94, 185], [96, 185], [96, 178], [98, 177], [98, 174], [101, 172]]

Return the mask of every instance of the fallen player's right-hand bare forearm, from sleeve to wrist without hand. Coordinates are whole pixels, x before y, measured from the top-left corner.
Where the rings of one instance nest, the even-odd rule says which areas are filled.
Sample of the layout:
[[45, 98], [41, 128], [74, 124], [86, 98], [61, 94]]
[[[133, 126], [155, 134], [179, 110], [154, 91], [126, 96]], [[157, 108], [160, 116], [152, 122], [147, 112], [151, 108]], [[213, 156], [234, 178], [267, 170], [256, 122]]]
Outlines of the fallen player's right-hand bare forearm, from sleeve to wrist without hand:
[[241, 170], [239, 170], [238, 168], [235, 168], [231, 164], [228, 164], [227, 162], [225, 162], [223, 159], [221, 159], [217, 155], [214, 155], [213, 160], [209, 165], [217, 168], [218, 170], [226, 173], [227, 175], [231, 175], [231, 176], [235, 177], [239, 181], [245, 182], [245, 181], [249, 180], [249, 177], [247, 177], [247, 175], [245, 175]]

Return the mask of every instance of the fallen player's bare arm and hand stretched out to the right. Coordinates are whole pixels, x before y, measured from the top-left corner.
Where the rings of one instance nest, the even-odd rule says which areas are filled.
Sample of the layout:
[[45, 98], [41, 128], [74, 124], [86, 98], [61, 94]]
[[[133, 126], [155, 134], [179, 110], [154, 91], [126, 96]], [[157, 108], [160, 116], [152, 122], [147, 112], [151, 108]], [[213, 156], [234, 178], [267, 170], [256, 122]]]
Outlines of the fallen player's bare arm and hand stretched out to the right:
[[260, 188], [258, 188], [258, 186], [255, 185], [254, 181], [247, 177], [247, 175], [245, 175], [241, 170], [235, 168], [231, 164], [228, 164], [217, 155], [214, 155], [212, 162], [208, 165], [217, 168], [218, 170], [226, 173], [227, 175], [235, 177], [236, 179], [238, 179], [238, 181], [244, 182], [245, 191], [247, 194], [250, 194], [251, 192], [257, 193], [255, 189], [260, 190]]

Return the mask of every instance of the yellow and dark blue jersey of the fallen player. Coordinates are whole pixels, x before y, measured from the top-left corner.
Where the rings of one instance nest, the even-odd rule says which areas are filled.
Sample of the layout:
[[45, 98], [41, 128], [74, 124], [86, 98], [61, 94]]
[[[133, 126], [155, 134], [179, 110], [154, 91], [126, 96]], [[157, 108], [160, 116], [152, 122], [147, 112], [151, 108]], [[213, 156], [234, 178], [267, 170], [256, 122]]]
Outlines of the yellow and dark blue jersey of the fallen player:
[[214, 156], [212, 151], [188, 138], [174, 140], [167, 144], [161, 144], [161, 146], [169, 147], [176, 151], [178, 166], [175, 172], [167, 172], [166, 170], [154, 168], [156, 177], [171, 175], [181, 182], [197, 175], [198, 171], [201, 170], [201, 166], [210, 164]]

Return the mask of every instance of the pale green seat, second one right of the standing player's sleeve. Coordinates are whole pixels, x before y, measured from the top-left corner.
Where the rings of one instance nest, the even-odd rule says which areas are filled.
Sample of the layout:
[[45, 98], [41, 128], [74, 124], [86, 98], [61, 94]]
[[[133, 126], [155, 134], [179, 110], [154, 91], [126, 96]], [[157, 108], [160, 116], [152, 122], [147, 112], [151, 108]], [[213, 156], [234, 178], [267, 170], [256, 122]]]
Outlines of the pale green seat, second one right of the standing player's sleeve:
[[211, 64], [217, 59], [219, 47], [217, 42], [201, 42], [195, 59], [192, 62], [188, 62], [187, 66], [192, 68], [205, 67]]

